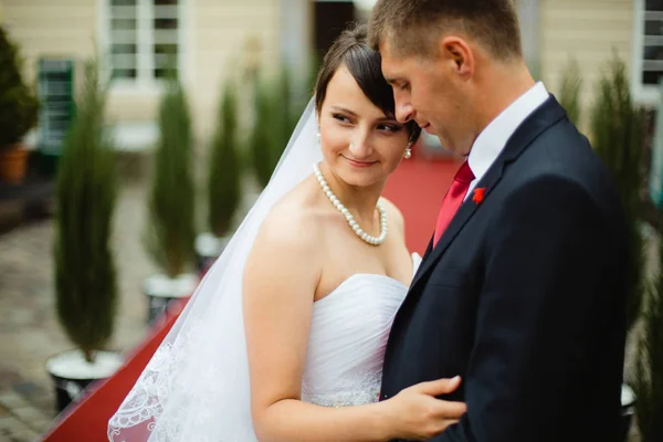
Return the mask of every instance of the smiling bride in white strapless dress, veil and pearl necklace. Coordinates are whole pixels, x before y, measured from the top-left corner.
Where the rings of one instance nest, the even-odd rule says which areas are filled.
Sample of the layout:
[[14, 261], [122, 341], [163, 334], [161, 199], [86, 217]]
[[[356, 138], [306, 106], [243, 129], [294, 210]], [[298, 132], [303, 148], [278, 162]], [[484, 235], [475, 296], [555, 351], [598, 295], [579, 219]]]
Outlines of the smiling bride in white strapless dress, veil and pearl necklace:
[[381, 198], [420, 129], [399, 124], [366, 29], [326, 54], [274, 175], [108, 423], [110, 441], [427, 440], [460, 380], [378, 402], [420, 262]]

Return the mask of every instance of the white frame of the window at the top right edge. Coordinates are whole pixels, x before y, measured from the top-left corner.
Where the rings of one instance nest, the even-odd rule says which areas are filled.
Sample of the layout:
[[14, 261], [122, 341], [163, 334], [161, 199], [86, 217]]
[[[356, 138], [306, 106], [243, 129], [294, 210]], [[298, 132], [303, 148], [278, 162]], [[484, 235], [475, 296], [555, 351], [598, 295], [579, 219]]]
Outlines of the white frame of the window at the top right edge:
[[[631, 93], [633, 98], [643, 105], [654, 106], [661, 99], [659, 86], [655, 84], [642, 83], [642, 67], [644, 56], [644, 0], [635, 0], [633, 2], [633, 46], [632, 46], [632, 63], [631, 63]], [[661, 12], [663, 20], [663, 11]], [[663, 36], [661, 36], [663, 45]]]

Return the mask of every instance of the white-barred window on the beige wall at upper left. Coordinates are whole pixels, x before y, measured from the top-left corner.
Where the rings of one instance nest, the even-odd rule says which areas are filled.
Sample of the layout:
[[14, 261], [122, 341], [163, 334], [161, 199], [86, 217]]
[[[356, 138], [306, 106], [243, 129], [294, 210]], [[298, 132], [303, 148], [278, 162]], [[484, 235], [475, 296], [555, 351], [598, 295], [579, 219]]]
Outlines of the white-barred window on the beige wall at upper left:
[[114, 81], [148, 85], [177, 74], [183, 0], [107, 0], [107, 54]]

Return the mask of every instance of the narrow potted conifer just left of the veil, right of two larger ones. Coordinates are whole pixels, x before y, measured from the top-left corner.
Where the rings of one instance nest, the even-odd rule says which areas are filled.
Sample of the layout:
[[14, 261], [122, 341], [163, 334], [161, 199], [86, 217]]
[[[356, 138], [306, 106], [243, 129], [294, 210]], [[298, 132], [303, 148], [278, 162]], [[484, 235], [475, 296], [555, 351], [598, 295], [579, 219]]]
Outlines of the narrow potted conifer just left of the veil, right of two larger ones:
[[228, 82], [219, 106], [208, 173], [208, 228], [196, 239], [199, 271], [204, 273], [228, 243], [227, 233], [241, 201], [235, 86]]

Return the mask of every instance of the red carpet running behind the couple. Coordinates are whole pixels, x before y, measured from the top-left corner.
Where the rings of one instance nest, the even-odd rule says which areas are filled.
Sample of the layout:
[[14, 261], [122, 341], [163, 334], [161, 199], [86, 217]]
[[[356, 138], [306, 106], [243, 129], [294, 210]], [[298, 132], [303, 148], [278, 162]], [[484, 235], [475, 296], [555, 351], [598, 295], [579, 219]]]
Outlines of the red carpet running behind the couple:
[[[423, 254], [431, 238], [446, 188], [459, 168], [457, 162], [424, 160], [402, 161], [389, 179], [385, 196], [403, 213], [406, 239], [412, 252]], [[175, 323], [176, 315], [155, 326], [146, 340], [127, 357], [125, 366], [107, 381], [92, 387], [81, 402], [72, 404], [57, 418], [44, 436], [48, 442], [107, 441], [106, 428], [124, 397], [134, 386], [161, 340]]]

